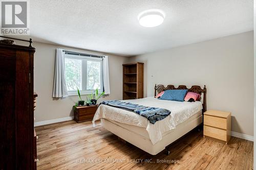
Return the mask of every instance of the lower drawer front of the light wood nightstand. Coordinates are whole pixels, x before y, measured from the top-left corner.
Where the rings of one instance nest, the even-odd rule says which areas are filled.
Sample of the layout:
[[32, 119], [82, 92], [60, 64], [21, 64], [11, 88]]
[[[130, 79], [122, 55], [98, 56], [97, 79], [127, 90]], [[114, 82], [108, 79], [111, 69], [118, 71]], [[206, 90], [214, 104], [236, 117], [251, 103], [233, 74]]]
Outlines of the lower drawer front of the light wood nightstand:
[[227, 131], [204, 125], [204, 135], [227, 141]]

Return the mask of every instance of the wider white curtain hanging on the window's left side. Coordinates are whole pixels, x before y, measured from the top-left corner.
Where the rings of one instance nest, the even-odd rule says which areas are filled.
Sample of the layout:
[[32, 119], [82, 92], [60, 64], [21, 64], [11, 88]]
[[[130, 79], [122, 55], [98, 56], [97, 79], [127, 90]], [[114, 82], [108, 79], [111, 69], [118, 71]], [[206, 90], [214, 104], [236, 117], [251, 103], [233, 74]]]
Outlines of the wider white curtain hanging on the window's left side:
[[64, 55], [65, 52], [63, 52], [61, 48], [56, 49], [54, 84], [52, 93], [53, 98], [63, 98], [68, 96], [65, 77]]

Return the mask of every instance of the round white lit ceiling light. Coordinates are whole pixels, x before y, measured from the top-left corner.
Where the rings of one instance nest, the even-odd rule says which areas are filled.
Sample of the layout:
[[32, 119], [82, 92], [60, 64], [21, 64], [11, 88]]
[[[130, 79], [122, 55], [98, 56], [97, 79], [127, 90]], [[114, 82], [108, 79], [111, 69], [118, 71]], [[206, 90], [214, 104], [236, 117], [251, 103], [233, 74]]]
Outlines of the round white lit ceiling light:
[[157, 27], [163, 23], [164, 13], [159, 9], [150, 9], [141, 12], [138, 20], [143, 27]]

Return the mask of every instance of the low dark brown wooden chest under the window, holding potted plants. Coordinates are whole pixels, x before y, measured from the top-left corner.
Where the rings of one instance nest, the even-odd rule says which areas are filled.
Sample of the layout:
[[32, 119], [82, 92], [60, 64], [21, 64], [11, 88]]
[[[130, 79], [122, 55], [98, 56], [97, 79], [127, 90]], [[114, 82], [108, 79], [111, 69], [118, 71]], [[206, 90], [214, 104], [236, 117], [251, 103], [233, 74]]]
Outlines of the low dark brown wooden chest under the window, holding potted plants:
[[98, 105], [78, 106], [74, 111], [74, 120], [77, 123], [92, 120]]

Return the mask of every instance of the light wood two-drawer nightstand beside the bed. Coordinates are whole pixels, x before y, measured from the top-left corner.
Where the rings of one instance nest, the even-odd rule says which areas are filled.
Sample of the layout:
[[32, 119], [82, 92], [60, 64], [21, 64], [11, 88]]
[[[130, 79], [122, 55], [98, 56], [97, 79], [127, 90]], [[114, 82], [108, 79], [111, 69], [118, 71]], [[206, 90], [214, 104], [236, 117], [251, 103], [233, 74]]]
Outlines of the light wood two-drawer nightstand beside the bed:
[[204, 136], [226, 141], [230, 139], [231, 113], [208, 110], [204, 112]]

